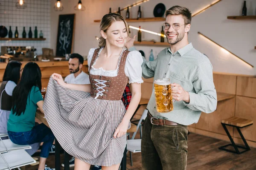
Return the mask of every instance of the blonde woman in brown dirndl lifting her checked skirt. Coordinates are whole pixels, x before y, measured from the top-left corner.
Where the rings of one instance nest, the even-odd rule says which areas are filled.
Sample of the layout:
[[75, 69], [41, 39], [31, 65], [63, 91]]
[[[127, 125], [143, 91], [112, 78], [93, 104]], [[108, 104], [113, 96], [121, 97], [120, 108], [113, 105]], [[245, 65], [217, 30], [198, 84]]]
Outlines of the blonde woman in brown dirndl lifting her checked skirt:
[[[56, 139], [76, 158], [75, 170], [89, 170], [90, 164], [118, 170], [130, 119], [140, 102], [143, 60], [140, 52], [125, 48], [127, 23], [119, 14], [106, 14], [100, 30], [100, 48], [88, 55], [90, 84], [66, 84], [54, 73], [43, 107]], [[126, 111], [121, 98], [128, 79], [132, 98]]]

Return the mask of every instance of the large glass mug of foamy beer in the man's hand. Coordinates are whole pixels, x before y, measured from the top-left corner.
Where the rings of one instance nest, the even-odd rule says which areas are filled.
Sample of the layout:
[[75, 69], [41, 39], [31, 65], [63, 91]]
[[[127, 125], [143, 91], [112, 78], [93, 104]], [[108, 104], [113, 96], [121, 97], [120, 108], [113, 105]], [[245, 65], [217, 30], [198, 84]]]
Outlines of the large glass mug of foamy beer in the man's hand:
[[156, 79], [154, 81], [157, 112], [168, 113], [173, 110], [172, 87], [170, 79]]

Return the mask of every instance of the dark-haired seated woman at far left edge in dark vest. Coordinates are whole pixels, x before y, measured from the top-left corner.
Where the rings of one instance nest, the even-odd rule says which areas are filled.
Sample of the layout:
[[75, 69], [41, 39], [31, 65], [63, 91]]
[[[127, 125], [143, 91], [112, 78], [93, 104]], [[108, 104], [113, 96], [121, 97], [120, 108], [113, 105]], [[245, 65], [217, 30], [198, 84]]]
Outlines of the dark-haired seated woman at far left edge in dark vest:
[[12, 109], [12, 91], [20, 81], [21, 63], [11, 61], [7, 64], [0, 86], [0, 133], [7, 133], [7, 121]]

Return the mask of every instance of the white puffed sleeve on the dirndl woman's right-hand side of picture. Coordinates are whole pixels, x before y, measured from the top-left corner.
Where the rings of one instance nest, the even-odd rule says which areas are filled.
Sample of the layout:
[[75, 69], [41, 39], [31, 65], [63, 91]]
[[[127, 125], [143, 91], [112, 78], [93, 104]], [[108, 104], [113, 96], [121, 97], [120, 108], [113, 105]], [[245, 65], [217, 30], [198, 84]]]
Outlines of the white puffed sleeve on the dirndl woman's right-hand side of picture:
[[139, 51], [129, 52], [125, 62], [125, 75], [129, 77], [129, 83], [143, 83], [142, 63], [143, 59]]

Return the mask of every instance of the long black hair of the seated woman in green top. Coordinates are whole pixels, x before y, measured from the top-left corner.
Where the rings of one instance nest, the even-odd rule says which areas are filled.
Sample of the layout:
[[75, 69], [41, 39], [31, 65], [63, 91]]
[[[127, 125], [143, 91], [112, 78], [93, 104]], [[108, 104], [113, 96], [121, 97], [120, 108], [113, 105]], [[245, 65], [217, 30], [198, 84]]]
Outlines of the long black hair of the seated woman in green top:
[[37, 63], [28, 62], [22, 72], [20, 82], [12, 92], [12, 113], [20, 116], [24, 113], [27, 104], [27, 98], [33, 86], [41, 91], [41, 70]]

